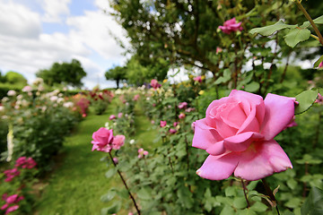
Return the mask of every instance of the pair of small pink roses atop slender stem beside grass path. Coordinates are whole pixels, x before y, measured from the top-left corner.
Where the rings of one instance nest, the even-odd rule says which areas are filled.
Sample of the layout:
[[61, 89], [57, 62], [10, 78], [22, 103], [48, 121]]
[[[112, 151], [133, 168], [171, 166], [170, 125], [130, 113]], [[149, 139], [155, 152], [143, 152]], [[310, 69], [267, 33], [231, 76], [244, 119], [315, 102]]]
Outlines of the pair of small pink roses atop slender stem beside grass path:
[[100, 150], [110, 152], [111, 150], [119, 150], [125, 143], [124, 135], [113, 136], [113, 130], [105, 127], [92, 134], [92, 150]]

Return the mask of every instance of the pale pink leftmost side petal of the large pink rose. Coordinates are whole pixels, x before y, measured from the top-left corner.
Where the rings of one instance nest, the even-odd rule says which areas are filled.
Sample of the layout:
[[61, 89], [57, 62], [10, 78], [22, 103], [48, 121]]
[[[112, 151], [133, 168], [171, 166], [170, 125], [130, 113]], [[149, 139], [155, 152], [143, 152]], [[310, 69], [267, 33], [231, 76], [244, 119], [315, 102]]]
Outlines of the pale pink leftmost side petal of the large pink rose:
[[195, 133], [193, 138], [193, 147], [206, 150], [215, 142], [223, 140], [219, 133], [213, 127], [206, 125], [205, 118], [195, 122]]

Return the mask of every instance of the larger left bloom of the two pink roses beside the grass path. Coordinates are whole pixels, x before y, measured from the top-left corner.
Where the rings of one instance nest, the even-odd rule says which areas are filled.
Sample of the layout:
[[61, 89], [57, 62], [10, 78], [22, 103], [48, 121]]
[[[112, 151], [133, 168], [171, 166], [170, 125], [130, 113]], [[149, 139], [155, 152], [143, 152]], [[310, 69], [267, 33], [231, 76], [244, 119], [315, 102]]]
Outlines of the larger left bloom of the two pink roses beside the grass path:
[[100, 127], [98, 131], [92, 134], [92, 150], [110, 152], [112, 150], [113, 131], [105, 127]]

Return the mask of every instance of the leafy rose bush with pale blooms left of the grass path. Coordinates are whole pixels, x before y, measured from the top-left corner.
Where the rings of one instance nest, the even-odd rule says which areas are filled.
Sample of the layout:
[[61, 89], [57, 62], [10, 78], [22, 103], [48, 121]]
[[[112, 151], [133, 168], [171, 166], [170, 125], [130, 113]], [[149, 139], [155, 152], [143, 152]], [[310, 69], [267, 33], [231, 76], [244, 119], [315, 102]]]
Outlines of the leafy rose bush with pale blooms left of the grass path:
[[3, 152], [2, 159], [32, 157], [39, 163], [41, 174], [52, 168], [52, 156], [62, 149], [65, 135], [79, 118], [73, 111], [73, 103], [62, 96], [59, 90], [48, 93], [38, 90], [2, 100], [2, 118], [13, 126], [13, 150], [8, 148]]

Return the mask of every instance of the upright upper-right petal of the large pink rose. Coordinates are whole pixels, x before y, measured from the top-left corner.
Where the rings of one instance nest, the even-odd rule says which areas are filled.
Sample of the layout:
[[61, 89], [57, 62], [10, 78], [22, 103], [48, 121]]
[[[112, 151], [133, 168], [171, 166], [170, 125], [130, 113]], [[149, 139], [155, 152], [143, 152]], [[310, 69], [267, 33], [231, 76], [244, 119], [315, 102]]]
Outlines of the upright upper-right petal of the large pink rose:
[[282, 132], [294, 116], [294, 98], [268, 93], [265, 99], [266, 114], [261, 133], [266, 140], [271, 140]]

